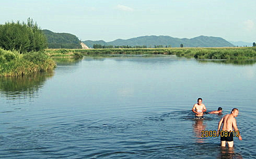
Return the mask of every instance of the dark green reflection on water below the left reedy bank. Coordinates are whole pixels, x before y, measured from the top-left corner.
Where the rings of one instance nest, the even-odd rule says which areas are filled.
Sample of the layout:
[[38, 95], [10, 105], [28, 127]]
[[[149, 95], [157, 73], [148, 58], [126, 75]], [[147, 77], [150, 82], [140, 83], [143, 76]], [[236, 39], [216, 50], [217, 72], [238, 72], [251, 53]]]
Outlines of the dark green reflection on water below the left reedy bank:
[[1, 77], [0, 92], [8, 99], [36, 97], [46, 79], [53, 76], [53, 71], [31, 75], [29, 77]]

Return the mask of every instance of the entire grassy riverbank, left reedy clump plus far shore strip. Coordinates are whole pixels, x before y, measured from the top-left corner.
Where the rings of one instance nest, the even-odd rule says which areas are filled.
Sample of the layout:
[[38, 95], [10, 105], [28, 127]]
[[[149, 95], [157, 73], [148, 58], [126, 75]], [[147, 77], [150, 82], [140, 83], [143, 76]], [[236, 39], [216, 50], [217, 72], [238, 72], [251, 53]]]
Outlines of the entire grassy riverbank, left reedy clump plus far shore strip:
[[101, 55], [176, 55], [195, 59], [256, 59], [256, 47], [225, 48], [100, 48], [100, 49], [46, 49], [41, 52], [19, 54], [0, 48], [0, 77], [27, 76], [53, 70], [56, 58], [82, 59], [83, 56]]

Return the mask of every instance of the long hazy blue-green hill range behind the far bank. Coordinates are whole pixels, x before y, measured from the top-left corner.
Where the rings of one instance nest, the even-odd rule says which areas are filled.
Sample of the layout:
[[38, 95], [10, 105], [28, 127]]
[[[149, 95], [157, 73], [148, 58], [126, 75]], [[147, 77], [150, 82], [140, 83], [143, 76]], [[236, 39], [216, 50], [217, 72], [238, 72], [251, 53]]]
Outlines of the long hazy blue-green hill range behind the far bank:
[[234, 46], [230, 42], [226, 41], [223, 38], [213, 37], [213, 36], [198, 36], [192, 39], [179, 39], [172, 38], [171, 36], [139, 36], [137, 38], [131, 38], [127, 40], [117, 39], [111, 42], [100, 41], [83, 41], [87, 46], [93, 47], [94, 44], [100, 45], [113, 45], [113, 46], [143, 46], [155, 47], [155, 46], [171, 46], [171, 47], [180, 47], [180, 44], [183, 44], [183, 47], [232, 47]]

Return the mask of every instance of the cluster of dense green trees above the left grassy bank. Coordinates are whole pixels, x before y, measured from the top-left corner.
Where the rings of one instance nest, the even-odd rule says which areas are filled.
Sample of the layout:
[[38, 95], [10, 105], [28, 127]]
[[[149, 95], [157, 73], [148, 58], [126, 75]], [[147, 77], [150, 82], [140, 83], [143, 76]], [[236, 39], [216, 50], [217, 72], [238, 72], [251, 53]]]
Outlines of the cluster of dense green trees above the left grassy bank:
[[47, 41], [37, 23], [28, 18], [27, 23], [12, 21], [0, 25], [0, 47], [27, 53], [43, 50], [47, 47]]

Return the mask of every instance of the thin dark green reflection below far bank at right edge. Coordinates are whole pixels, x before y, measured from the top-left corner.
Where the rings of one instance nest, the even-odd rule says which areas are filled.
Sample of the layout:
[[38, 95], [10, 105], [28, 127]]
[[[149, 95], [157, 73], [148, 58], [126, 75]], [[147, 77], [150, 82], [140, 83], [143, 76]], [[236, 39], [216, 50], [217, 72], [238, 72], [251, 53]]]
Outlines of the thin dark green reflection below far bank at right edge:
[[256, 60], [222, 60], [222, 59], [197, 59], [199, 63], [217, 63], [217, 64], [232, 64], [232, 65], [253, 65]]

